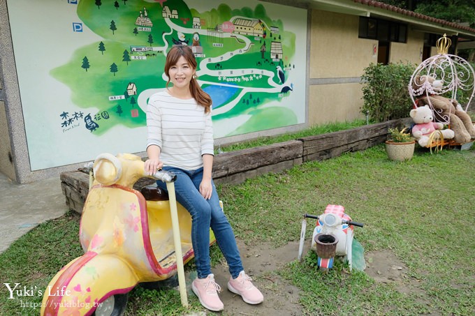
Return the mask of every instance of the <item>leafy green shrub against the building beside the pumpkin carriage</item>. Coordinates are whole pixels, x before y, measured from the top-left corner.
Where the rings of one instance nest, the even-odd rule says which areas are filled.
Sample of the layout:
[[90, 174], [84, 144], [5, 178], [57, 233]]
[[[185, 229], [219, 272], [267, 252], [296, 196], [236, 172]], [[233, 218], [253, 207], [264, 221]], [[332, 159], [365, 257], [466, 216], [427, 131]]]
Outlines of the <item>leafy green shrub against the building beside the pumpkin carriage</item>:
[[410, 63], [371, 63], [361, 81], [364, 104], [361, 112], [383, 122], [409, 116], [412, 102], [407, 86], [416, 66]]

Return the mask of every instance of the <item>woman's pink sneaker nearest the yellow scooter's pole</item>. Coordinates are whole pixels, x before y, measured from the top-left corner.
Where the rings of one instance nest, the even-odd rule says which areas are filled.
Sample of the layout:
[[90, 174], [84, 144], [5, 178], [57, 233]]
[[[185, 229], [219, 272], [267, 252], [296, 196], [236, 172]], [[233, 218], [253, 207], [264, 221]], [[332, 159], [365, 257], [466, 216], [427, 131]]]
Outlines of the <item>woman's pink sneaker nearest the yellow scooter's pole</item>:
[[210, 274], [204, 279], [196, 278], [193, 280], [191, 283], [191, 289], [193, 289], [193, 293], [198, 296], [201, 305], [208, 310], [213, 310], [214, 312], [223, 310], [223, 302], [221, 302], [221, 299], [219, 299], [218, 296], [218, 292], [221, 292], [221, 287], [214, 282], [213, 274]]

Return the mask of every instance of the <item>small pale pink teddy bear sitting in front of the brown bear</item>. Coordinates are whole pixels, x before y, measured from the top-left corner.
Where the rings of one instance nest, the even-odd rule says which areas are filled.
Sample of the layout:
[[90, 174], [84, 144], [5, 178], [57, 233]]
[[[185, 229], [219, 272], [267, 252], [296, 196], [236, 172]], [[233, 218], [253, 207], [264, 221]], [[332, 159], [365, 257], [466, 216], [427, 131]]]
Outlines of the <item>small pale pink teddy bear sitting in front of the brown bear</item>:
[[435, 130], [440, 130], [440, 133], [434, 134], [434, 139], [439, 139], [440, 134], [444, 137], [444, 140], [451, 140], [455, 135], [451, 129], [443, 129], [444, 124], [433, 121], [432, 110], [429, 105], [423, 107], [417, 107], [409, 112], [412, 120], [416, 125], [412, 127], [412, 135], [417, 140], [418, 144], [426, 147], [430, 142], [430, 135]]

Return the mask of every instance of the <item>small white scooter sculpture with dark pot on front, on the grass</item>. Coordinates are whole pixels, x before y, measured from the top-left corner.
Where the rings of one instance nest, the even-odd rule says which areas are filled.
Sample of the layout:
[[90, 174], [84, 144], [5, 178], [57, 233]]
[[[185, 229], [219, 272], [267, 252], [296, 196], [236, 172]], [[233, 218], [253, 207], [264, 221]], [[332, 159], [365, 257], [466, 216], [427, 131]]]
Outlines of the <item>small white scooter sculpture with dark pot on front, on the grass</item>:
[[299, 260], [302, 259], [307, 218], [317, 220], [312, 235], [311, 248], [318, 255], [319, 269], [328, 271], [328, 269], [333, 268], [333, 261], [335, 255], [337, 255], [346, 257], [351, 270], [353, 264], [351, 252], [353, 246], [353, 226], [363, 227], [363, 224], [351, 221], [351, 218], [344, 213], [344, 207], [341, 205], [329, 204], [325, 212], [320, 216], [305, 214], [300, 232]]

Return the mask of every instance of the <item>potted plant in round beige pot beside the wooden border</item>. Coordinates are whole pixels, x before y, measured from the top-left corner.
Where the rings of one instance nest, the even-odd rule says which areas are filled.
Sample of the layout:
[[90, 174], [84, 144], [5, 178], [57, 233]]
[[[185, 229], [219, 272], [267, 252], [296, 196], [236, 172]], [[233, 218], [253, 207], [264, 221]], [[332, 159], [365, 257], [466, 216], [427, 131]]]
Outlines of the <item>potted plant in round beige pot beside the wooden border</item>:
[[386, 153], [390, 160], [411, 160], [414, 155], [414, 147], [416, 141], [411, 134], [407, 133], [407, 128], [399, 130], [397, 128], [389, 128], [389, 140], [386, 140]]

